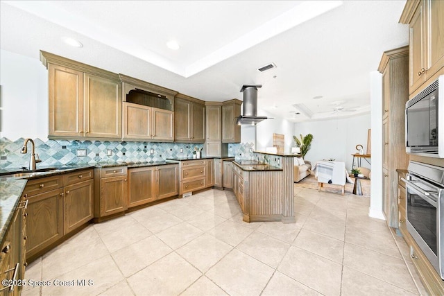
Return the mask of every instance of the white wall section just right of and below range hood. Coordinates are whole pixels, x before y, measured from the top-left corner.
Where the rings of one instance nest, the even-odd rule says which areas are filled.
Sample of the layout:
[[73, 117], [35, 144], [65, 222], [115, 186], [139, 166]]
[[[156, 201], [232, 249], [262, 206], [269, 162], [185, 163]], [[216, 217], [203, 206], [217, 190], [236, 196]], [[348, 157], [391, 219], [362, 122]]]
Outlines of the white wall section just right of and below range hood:
[[260, 116], [273, 117], [257, 123], [256, 125], [256, 150], [265, 151], [266, 147], [273, 147], [273, 134], [284, 134], [285, 150], [284, 153], [290, 153], [293, 146], [293, 123], [286, 119], [275, 118], [264, 110], [258, 110]]

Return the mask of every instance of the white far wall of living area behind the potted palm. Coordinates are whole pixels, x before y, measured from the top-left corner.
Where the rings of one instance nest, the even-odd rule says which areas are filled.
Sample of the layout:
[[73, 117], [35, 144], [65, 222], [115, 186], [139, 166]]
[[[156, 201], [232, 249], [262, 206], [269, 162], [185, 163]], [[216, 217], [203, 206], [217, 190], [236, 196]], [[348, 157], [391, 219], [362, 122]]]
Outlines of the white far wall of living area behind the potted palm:
[[[311, 149], [305, 159], [313, 164], [321, 159], [335, 159], [336, 162], [345, 162], [348, 171], [352, 168], [352, 154], [357, 153], [357, 144], [364, 146], [364, 153], [367, 150], [368, 129], [370, 114], [294, 124], [294, 134], [297, 137], [300, 134], [313, 134]], [[361, 166], [370, 168], [364, 159], [361, 159]]]

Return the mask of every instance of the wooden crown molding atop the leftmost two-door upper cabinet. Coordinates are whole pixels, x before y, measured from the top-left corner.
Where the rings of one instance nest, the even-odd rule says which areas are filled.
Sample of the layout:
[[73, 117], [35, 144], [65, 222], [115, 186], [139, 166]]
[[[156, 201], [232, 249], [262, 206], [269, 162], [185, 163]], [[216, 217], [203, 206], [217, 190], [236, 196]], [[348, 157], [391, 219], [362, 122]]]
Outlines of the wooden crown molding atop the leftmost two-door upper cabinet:
[[82, 71], [86, 73], [92, 73], [96, 76], [101, 76], [102, 78], [116, 80], [120, 82], [120, 78], [117, 73], [112, 73], [110, 71], [93, 67], [89, 64], [83, 64], [75, 60], [70, 60], [68, 58], [63, 58], [60, 55], [55, 55], [46, 51], [40, 51], [40, 61], [44, 64], [44, 67], [46, 67], [46, 69], [48, 69], [48, 64], [57, 64], [62, 67], [67, 67], [69, 69], [75, 69], [77, 71]]

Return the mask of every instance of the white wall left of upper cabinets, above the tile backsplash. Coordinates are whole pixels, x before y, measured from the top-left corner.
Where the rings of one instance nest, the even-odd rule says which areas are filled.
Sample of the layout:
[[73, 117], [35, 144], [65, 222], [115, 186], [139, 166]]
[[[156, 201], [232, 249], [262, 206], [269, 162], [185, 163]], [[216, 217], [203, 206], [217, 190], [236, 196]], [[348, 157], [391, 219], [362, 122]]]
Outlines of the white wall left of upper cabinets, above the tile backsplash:
[[40, 60], [0, 51], [1, 137], [48, 137], [48, 72]]

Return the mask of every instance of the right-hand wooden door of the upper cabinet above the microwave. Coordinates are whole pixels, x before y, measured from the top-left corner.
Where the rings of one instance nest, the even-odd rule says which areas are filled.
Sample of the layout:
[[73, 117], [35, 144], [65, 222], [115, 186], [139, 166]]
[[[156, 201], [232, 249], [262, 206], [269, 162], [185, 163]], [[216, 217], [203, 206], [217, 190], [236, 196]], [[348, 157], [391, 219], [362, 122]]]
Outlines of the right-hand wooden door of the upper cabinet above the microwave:
[[444, 1], [427, 1], [427, 78], [444, 67]]

